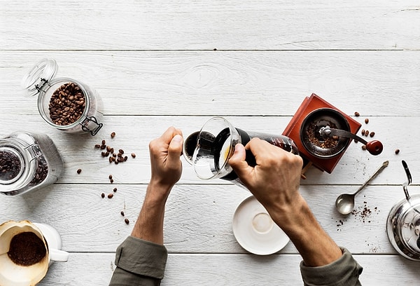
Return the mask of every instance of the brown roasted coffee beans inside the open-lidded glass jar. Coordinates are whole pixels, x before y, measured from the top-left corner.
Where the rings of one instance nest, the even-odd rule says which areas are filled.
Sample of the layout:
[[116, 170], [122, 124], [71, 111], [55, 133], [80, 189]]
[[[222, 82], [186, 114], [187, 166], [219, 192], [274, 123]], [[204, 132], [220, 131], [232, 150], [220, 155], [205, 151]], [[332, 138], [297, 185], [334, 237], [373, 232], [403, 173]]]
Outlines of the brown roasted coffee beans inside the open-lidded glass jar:
[[80, 86], [64, 83], [52, 93], [48, 109], [52, 123], [70, 125], [82, 116], [85, 107], [85, 95]]

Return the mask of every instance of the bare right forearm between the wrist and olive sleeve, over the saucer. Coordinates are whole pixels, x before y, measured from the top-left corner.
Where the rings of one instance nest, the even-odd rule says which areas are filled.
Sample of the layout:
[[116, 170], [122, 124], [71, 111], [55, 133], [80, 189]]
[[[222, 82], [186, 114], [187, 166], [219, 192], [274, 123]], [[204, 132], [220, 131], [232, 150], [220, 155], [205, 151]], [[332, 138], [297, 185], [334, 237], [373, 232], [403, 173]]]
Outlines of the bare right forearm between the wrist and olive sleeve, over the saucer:
[[306, 266], [323, 266], [342, 256], [342, 251], [321, 228], [302, 197], [293, 209], [272, 212], [274, 222], [292, 240]]

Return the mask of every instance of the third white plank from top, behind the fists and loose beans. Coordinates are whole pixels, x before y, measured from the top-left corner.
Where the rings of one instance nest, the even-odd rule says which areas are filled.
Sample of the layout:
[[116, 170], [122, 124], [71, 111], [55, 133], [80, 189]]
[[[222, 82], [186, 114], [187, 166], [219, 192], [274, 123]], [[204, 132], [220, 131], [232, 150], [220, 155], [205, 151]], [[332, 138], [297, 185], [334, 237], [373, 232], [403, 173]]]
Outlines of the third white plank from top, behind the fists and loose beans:
[[[2, 125], [1, 137], [18, 130], [31, 130], [48, 134], [57, 145], [65, 163], [65, 170], [59, 183], [101, 183], [108, 184], [110, 174], [115, 184], [147, 184], [150, 179], [150, 163], [148, 143], [162, 135], [169, 126], [183, 130], [183, 135], [200, 130], [209, 120], [209, 116], [105, 116], [104, 128], [92, 137], [90, 134], [67, 134], [50, 127], [41, 116], [13, 116], [0, 114]], [[232, 124], [242, 130], [254, 132], [267, 132], [279, 135], [286, 128], [290, 117], [284, 116], [228, 116]], [[412, 142], [419, 140], [418, 132], [407, 132], [404, 126], [420, 125], [420, 117], [402, 116], [369, 116], [370, 122], [365, 124], [364, 117], [357, 118], [363, 123], [362, 128], [369, 128], [376, 132], [373, 138], [384, 144], [384, 151], [379, 156], [372, 156], [361, 149], [362, 144], [351, 142], [349, 148], [340, 159], [332, 174], [321, 172], [311, 167], [305, 173], [307, 179], [302, 184], [362, 184], [367, 177], [378, 168], [382, 162], [388, 160], [390, 164], [379, 176], [375, 184], [402, 184], [405, 173], [401, 160], [406, 160], [414, 174], [420, 174], [420, 154]], [[360, 128], [360, 129], [362, 129]], [[111, 139], [111, 132], [116, 137]], [[359, 133], [360, 134], [360, 133]], [[95, 149], [95, 144], [101, 144], [106, 139], [107, 144], [115, 149], [124, 149], [128, 157], [127, 162], [115, 165], [110, 164], [107, 158], [101, 156], [101, 150]], [[395, 155], [395, 149], [400, 154]], [[136, 158], [131, 158], [134, 152]], [[193, 167], [184, 158], [183, 176], [181, 184], [225, 184], [217, 179], [203, 181], [195, 175]], [[83, 172], [78, 175], [76, 170]], [[414, 180], [415, 183], [415, 180]]]

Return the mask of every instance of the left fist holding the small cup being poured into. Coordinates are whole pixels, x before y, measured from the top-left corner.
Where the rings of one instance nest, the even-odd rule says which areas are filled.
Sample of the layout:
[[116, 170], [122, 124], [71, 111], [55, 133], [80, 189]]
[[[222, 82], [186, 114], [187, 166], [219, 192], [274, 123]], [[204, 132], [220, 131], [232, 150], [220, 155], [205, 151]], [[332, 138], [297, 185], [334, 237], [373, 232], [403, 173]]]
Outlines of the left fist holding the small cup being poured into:
[[151, 154], [151, 185], [169, 191], [181, 178], [183, 137], [174, 127], [149, 143]]

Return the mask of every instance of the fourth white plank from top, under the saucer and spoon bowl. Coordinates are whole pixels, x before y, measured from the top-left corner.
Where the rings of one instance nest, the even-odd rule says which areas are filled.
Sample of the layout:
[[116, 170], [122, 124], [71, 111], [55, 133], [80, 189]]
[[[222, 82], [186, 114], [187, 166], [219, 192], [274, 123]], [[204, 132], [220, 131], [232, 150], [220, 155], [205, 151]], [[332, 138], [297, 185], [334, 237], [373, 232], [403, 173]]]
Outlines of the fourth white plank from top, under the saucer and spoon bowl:
[[[145, 185], [56, 184], [18, 197], [1, 197], [0, 221], [29, 219], [54, 226], [69, 252], [115, 252], [130, 235], [146, 191]], [[343, 216], [335, 198], [357, 186], [302, 186], [316, 218], [338, 245], [356, 254], [394, 254], [386, 236], [386, 217], [404, 197], [401, 186], [367, 186], [356, 197], [355, 212]], [[410, 193], [420, 187], [410, 186]], [[177, 185], [167, 203], [165, 245], [171, 253], [246, 253], [232, 233], [237, 205], [251, 196], [233, 185]], [[365, 210], [366, 208], [366, 210]], [[125, 212], [122, 217], [120, 212]], [[370, 210], [370, 211], [367, 211]], [[130, 219], [130, 225], [124, 219]], [[292, 243], [281, 250], [295, 254]]]

